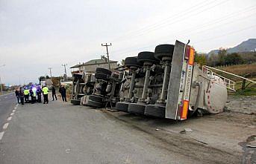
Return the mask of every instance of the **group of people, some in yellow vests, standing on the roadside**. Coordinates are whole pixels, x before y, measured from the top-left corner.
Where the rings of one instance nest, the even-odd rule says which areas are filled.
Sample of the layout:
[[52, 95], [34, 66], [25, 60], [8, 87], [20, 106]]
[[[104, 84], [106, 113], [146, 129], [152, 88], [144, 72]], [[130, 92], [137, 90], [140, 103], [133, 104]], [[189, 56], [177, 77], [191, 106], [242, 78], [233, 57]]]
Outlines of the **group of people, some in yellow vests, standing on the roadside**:
[[[60, 86], [59, 92], [61, 94], [63, 102], [66, 102], [66, 88], [63, 85]], [[21, 103], [22, 105], [24, 105], [24, 102], [26, 103], [31, 102], [32, 104], [34, 104], [35, 102], [42, 102], [42, 99], [41, 99], [42, 94], [43, 94], [43, 103], [48, 104], [49, 88], [47, 88], [46, 86], [43, 86], [43, 88], [41, 88], [40, 85], [33, 85], [30, 87], [16, 88], [15, 90], [17, 102]], [[51, 87], [51, 94], [52, 94], [52, 101], [54, 101], [54, 98], [55, 100], [57, 100], [56, 90], [53, 85]], [[29, 100], [29, 97], [31, 97], [31, 101]]]

